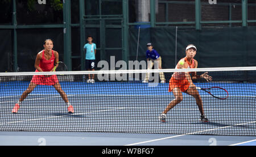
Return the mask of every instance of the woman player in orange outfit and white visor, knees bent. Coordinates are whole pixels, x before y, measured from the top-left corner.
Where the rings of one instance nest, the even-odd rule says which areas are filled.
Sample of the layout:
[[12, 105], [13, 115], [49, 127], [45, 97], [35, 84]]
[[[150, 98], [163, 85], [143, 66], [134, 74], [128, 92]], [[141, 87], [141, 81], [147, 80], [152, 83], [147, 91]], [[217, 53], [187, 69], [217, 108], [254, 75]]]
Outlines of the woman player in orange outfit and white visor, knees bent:
[[[197, 61], [194, 59], [196, 55], [196, 46], [188, 45], [186, 48], [186, 57], [182, 58], [176, 65], [175, 69], [186, 69], [186, 68], [197, 68]], [[192, 79], [204, 78], [207, 81], [212, 80], [207, 73], [197, 75], [196, 72], [192, 72]], [[166, 122], [166, 114], [170, 109], [174, 108], [175, 105], [179, 104], [182, 99], [182, 92], [189, 94], [196, 99], [196, 104], [199, 107], [201, 113], [200, 120], [203, 122], [208, 122], [208, 118], [204, 115], [203, 102], [199, 95], [199, 92], [196, 90], [195, 84], [193, 84], [191, 75], [185, 72], [175, 72], [172, 75], [172, 78], [169, 81], [169, 92], [173, 92], [175, 99], [172, 100], [162, 114], [159, 116], [159, 120]]]

